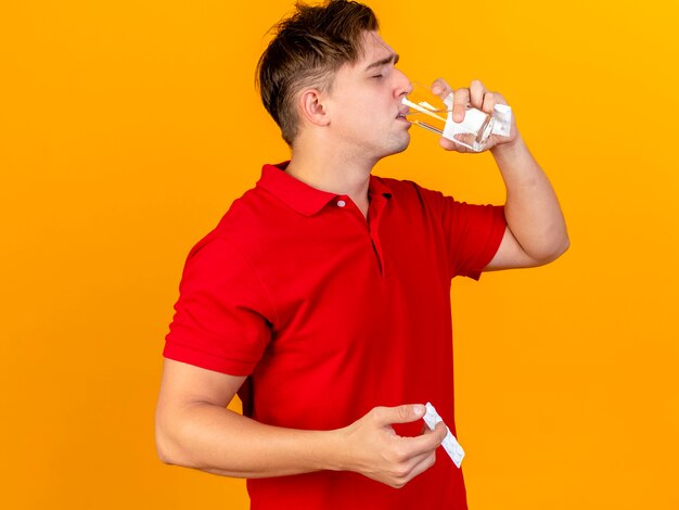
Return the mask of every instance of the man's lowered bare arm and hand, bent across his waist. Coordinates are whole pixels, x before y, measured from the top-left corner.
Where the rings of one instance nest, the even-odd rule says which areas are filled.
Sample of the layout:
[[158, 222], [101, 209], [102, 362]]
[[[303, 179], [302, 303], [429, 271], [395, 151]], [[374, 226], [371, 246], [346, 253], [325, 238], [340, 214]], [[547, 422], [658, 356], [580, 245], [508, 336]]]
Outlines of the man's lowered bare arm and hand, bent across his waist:
[[259, 423], [226, 407], [245, 378], [165, 360], [156, 410], [156, 447], [166, 463], [235, 477], [319, 470], [355, 471], [401, 487], [435, 461], [446, 429], [400, 437], [392, 423], [424, 416], [424, 406], [377, 407], [334, 431]]

